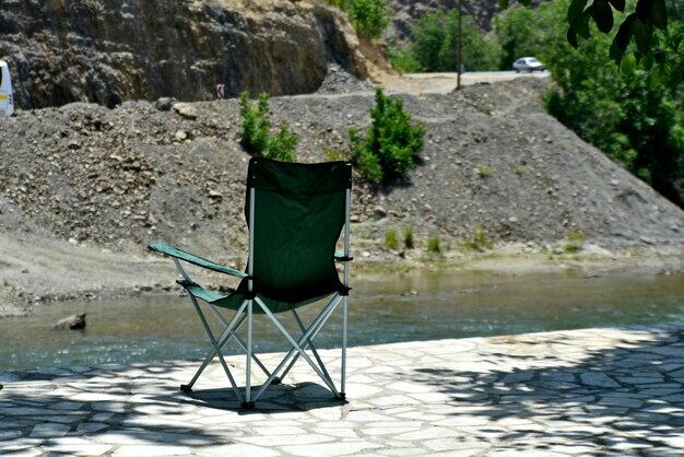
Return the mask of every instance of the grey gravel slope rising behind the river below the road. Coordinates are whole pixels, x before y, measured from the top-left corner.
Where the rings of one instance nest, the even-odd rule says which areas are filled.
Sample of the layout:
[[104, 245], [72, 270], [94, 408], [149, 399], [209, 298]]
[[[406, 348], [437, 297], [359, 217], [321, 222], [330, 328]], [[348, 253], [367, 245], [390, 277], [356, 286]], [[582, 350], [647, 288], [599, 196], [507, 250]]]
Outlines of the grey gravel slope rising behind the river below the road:
[[[444, 95], [411, 84], [384, 85], [425, 124], [425, 148], [401, 181], [375, 187], [356, 177], [359, 257], [417, 261], [435, 236], [443, 259], [458, 257], [476, 227], [499, 250], [561, 251], [581, 233], [585, 251], [681, 256], [684, 212], [547, 116], [546, 79]], [[367, 128], [373, 104], [367, 83], [331, 68], [320, 92], [270, 106], [274, 126], [286, 121], [299, 136], [297, 160], [314, 162], [344, 154], [349, 128]], [[240, 268], [249, 156], [239, 132], [236, 99], [79, 103], [3, 119], [0, 316], [40, 301], [168, 289], [172, 265], [146, 255], [151, 242]], [[384, 246], [388, 230], [406, 227], [414, 249]]]

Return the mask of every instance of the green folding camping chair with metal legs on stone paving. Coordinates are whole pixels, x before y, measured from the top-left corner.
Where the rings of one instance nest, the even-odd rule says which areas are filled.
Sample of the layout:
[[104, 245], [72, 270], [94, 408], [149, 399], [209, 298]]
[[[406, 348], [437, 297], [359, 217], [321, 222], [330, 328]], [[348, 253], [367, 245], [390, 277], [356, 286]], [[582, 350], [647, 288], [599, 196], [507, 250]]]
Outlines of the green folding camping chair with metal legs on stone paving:
[[[188, 292], [211, 342], [211, 349], [204, 361], [190, 383], [180, 386], [181, 391], [192, 391], [192, 386], [204, 368], [217, 356], [238, 401], [243, 408], [252, 409], [263, 391], [271, 384], [280, 384], [294, 363], [302, 358], [320, 376], [335, 398], [345, 400], [349, 266], [352, 260], [351, 189], [352, 166], [349, 162], [294, 164], [253, 157], [249, 161], [245, 202], [245, 215], [249, 227], [249, 261], [246, 273], [168, 244], [148, 246], [151, 250], [173, 258], [182, 277], [182, 280], [177, 282]], [[343, 226], [344, 251], [338, 254], [335, 245]], [[335, 260], [343, 262], [342, 281], [335, 268]], [[192, 281], [181, 261], [241, 280], [235, 292], [223, 295]], [[328, 304], [306, 328], [297, 314], [297, 308], [329, 296], [331, 297]], [[221, 335], [212, 332], [198, 301], [203, 302], [222, 324]], [[340, 303], [342, 303], [342, 359], [338, 390], [316, 351], [314, 339]], [[217, 307], [233, 309], [235, 315], [227, 320]], [[293, 337], [275, 316], [286, 312], [292, 314], [302, 331], [298, 338]], [[292, 347], [272, 371], [266, 367], [252, 349], [253, 314], [266, 314]], [[246, 326], [246, 341], [238, 335], [243, 326]], [[235, 340], [247, 355], [244, 396], [222, 353], [231, 340]], [[252, 392], [251, 385], [252, 360], [268, 377], [256, 392]]]

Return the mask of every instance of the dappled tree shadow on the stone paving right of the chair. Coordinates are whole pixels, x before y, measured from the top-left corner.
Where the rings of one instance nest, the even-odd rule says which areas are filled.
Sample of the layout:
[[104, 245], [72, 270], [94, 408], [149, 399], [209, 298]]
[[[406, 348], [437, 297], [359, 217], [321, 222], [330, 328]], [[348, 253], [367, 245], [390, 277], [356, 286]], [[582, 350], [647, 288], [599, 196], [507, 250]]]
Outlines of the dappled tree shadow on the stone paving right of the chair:
[[[482, 353], [492, 370], [416, 368], [409, 378], [446, 394], [457, 403], [455, 415], [473, 418], [476, 433], [511, 450], [543, 450], [552, 438], [590, 443], [611, 455], [684, 455], [684, 328], [664, 326], [638, 341], [589, 349], [575, 363], [539, 351], [516, 356], [500, 341], [502, 352], [488, 347]], [[558, 336], [515, 342], [530, 354], [534, 350], [524, 345], [539, 343], [575, 341]]]

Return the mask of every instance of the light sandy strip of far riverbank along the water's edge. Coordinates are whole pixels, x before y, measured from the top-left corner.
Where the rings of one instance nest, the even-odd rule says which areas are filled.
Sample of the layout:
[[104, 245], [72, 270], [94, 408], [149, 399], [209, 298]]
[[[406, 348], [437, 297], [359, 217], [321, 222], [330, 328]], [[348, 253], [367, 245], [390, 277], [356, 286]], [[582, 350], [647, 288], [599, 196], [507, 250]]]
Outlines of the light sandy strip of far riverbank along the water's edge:
[[[570, 247], [568, 247], [570, 246]], [[676, 247], [648, 244], [628, 250], [608, 250], [593, 244], [581, 246], [497, 244], [492, 249], [444, 244], [440, 251], [424, 246], [389, 249], [378, 242], [355, 239], [352, 282], [356, 279], [387, 281], [412, 271], [479, 271], [494, 276], [567, 273], [582, 277], [610, 274], [671, 274], [684, 271], [684, 253]], [[212, 258], [211, 254], [197, 251]], [[0, 318], [30, 316], [36, 304], [69, 301], [132, 298], [153, 294], [178, 294], [173, 262], [139, 248], [138, 255], [74, 246], [49, 236], [16, 241], [0, 234]], [[234, 268], [244, 268], [227, 262]], [[235, 286], [233, 278], [192, 269], [198, 282], [216, 290]]]

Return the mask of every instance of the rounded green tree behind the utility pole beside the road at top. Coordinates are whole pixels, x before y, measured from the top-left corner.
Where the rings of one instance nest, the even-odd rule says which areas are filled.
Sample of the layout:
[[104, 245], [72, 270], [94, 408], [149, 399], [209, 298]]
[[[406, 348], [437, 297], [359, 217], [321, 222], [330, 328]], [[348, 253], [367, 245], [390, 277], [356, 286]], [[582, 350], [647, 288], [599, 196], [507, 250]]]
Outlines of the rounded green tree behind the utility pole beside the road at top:
[[[458, 10], [424, 14], [412, 28], [413, 44], [409, 52], [421, 71], [458, 70]], [[462, 68], [468, 71], [496, 70], [498, 46], [485, 39], [473, 19], [462, 21]]]

